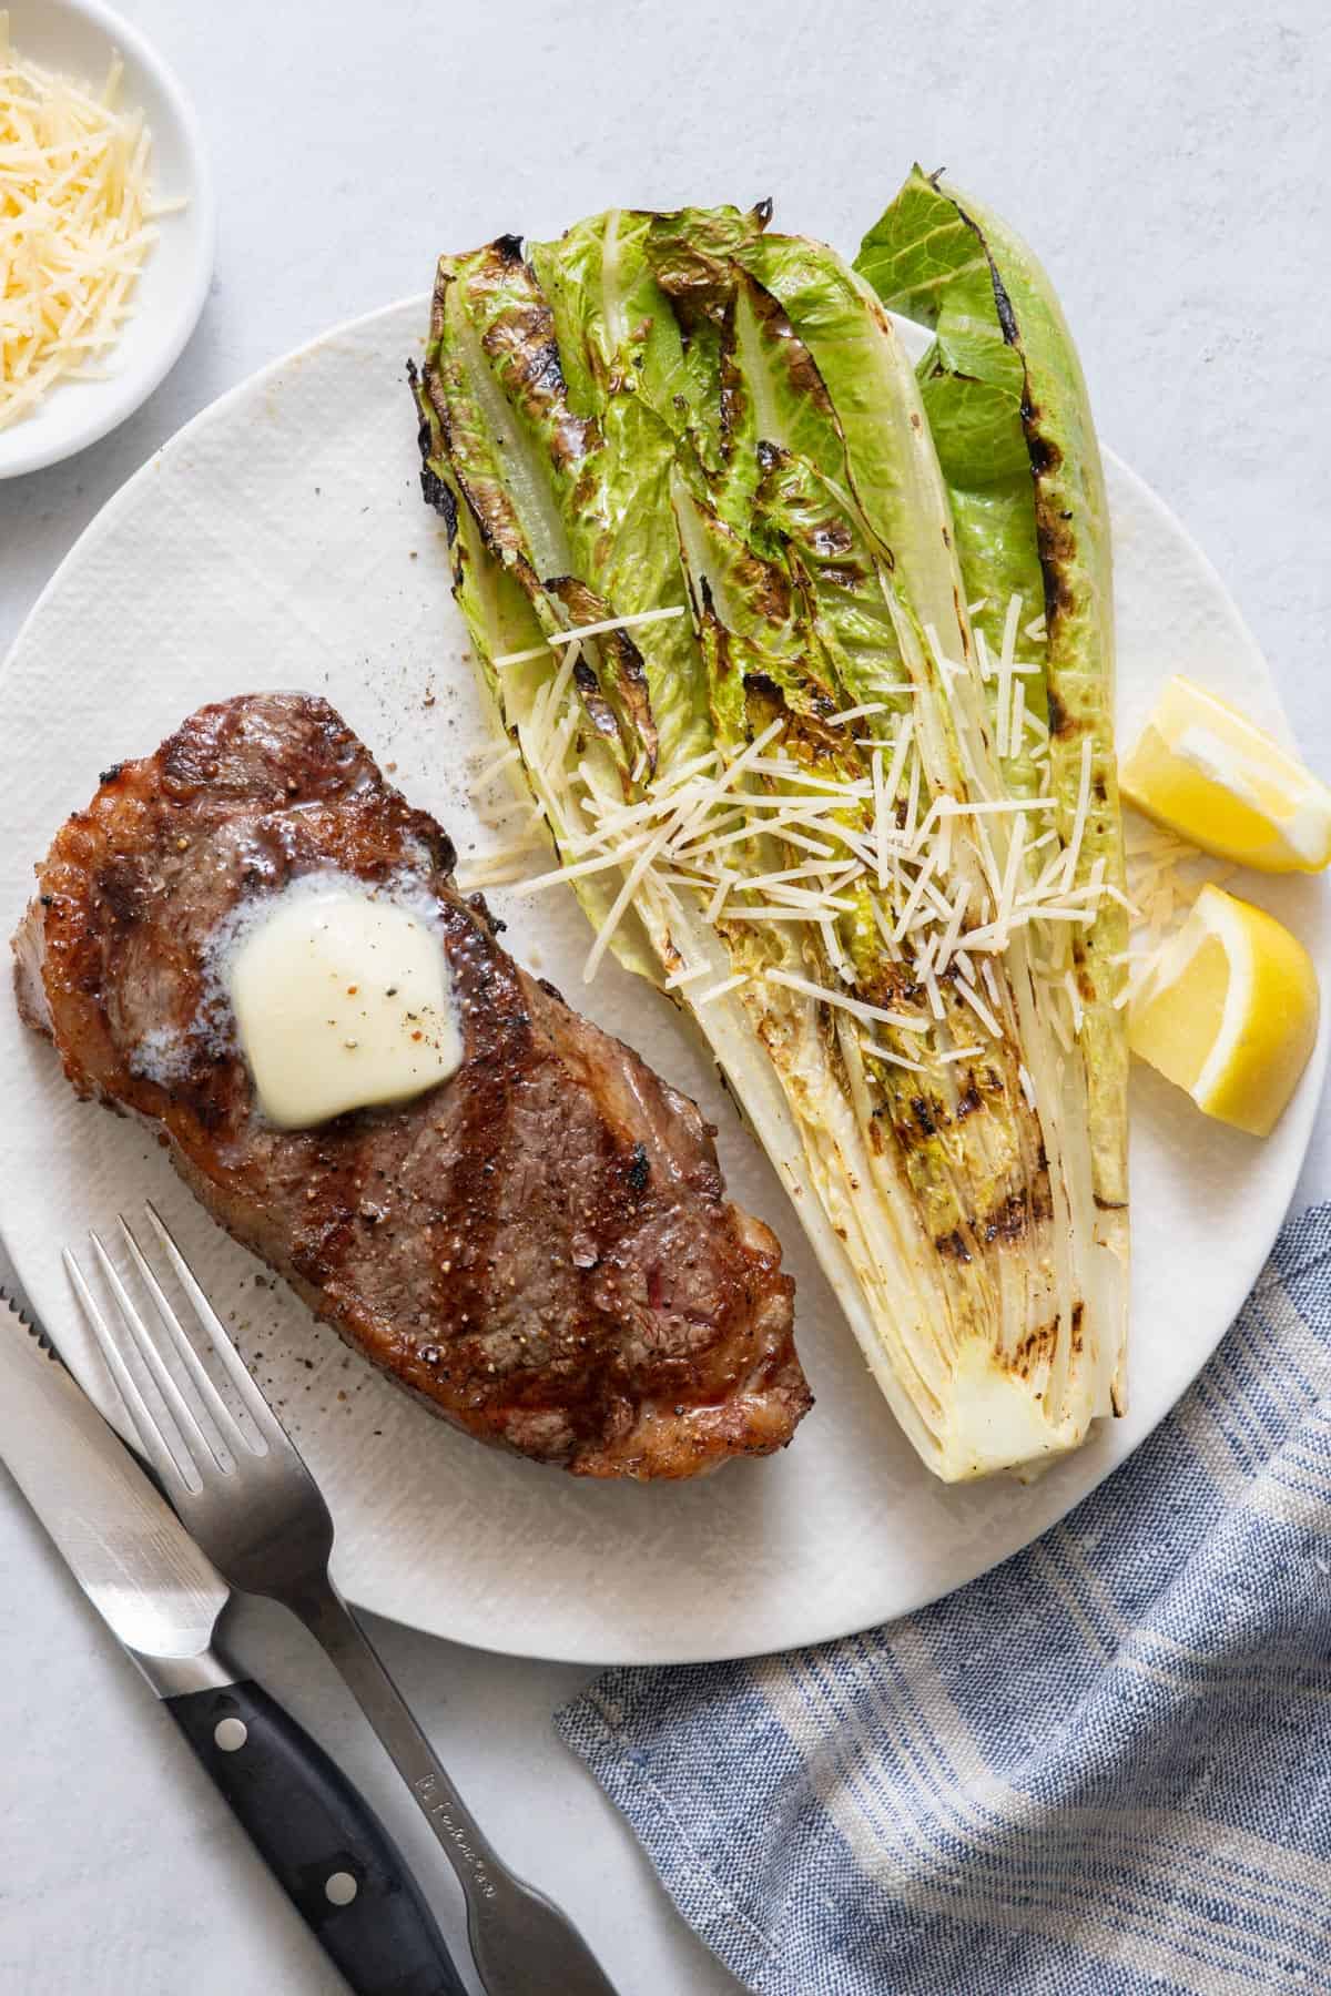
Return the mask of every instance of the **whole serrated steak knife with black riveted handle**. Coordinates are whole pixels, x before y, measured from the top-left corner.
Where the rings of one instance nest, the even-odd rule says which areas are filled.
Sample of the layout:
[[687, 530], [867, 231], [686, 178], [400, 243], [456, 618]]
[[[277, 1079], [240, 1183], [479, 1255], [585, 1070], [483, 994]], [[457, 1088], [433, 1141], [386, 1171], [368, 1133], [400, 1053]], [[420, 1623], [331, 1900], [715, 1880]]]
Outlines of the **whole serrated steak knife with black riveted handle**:
[[225, 1581], [2, 1291], [0, 1461], [355, 1996], [465, 1996], [379, 1818], [216, 1647]]

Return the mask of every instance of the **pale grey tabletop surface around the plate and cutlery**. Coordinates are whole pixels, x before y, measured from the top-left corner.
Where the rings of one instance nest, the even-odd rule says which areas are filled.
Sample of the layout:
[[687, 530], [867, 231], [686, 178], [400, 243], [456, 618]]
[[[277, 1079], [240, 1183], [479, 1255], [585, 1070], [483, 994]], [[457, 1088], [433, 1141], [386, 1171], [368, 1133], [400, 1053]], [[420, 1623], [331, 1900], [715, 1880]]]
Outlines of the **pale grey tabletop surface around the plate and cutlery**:
[[[1076, 0], [1048, 16], [1056, 34], [1014, 6], [870, 0], [132, 12], [212, 138], [218, 281], [176, 373], [118, 435], [0, 491], [0, 651], [78, 531], [182, 421], [319, 327], [419, 289], [435, 250], [553, 232], [609, 200], [762, 194], [780, 222], [852, 248], [916, 154], [1036, 240], [1104, 435], [1221, 569], [1309, 760], [1331, 768], [1331, 26], [1311, 0], [1273, 14]], [[1301, 1194], [1331, 1194], [1325, 1136]], [[549, 1713], [585, 1671], [375, 1635], [495, 1840], [569, 1904], [623, 1996], [734, 1990], [553, 1739]], [[235, 1641], [439, 1878], [299, 1631], [247, 1611]], [[333, 1996], [8, 1483], [0, 1727], [2, 1990]], [[439, 1880], [445, 1920], [447, 1894]]]

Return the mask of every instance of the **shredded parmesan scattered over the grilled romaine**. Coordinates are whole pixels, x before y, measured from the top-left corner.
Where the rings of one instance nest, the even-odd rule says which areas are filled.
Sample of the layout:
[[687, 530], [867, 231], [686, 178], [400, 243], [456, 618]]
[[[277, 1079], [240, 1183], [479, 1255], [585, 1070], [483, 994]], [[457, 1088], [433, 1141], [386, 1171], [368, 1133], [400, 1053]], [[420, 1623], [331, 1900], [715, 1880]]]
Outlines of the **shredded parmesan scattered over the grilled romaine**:
[[[1074, 928], [1090, 926], [1106, 898], [1121, 894], [1106, 880], [1104, 858], [1092, 866], [1084, 858], [1090, 739], [1082, 747], [1076, 810], [1066, 812], [1062, 792], [1054, 794], [1048, 725], [1026, 705], [1026, 679], [1042, 667], [1016, 657], [1018, 635], [1040, 641], [1044, 625], [1040, 619], [1022, 625], [1022, 599], [1008, 601], [998, 657], [976, 631], [978, 673], [992, 685], [982, 711], [992, 711], [996, 721], [994, 737], [982, 735], [982, 756], [966, 747], [966, 729], [974, 723], [964, 719], [964, 701], [980, 697], [970, 665], [946, 659], [936, 633], [924, 631], [934, 677], [944, 683], [942, 699], [950, 693], [958, 715], [956, 776], [938, 774], [932, 715], [906, 707], [906, 695], [940, 697], [938, 685], [930, 689], [924, 679], [886, 685], [880, 697], [822, 717], [826, 727], [846, 731], [834, 752], [814, 756], [808, 737], [782, 713], [746, 745], [710, 748], [655, 778], [647, 776], [645, 754], [611, 762], [601, 750], [587, 750], [589, 760], [569, 770], [563, 762], [567, 727], [579, 709], [571, 685], [575, 641], [663, 615], [684, 611], [605, 619], [557, 633], [547, 639], [545, 653], [537, 653], [549, 657], [555, 647], [561, 667], [529, 697], [523, 754], [535, 745], [537, 758], [545, 758], [541, 766], [551, 768], [555, 756], [561, 780], [581, 784], [577, 804], [585, 828], [571, 838], [561, 834], [565, 864], [529, 884], [543, 888], [555, 880], [577, 884], [587, 876], [619, 874], [585, 978], [595, 974], [641, 892], [678, 896], [714, 928], [718, 950], [706, 952], [708, 962], [672, 958], [674, 968], [663, 980], [666, 990], [704, 984], [692, 998], [702, 1006], [750, 986], [746, 1004], [766, 1004], [774, 1014], [782, 1008], [780, 990], [794, 992], [830, 1008], [842, 1020], [842, 1046], [858, 1040], [866, 1058], [882, 1062], [868, 1082], [890, 1088], [884, 1068], [938, 1076], [948, 1064], [1002, 1058], [996, 1048], [1022, 1018], [1016, 986], [1008, 980], [1028, 974], [1020, 966], [1010, 970], [1004, 958], [1024, 934], [1024, 962], [1036, 978], [1040, 1006], [1056, 1044], [1072, 1052], [1088, 1010], [1072, 968]], [[533, 653], [513, 653], [509, 663], [529, 657]], [[970, 685], [956, 687], [958, 679]], [[882, 717], [876, 731], [850, 733], [856, 721], [874, 717]], [[1030, 758], [1038, 794], [1008, 792], [998, 764], [986, 760], [994, 747], [1000, 758]], [[511, 750], [497, 766], [509, 756]], [[956, 794], [942, 786], [944, 780]], [[1157, 882], [1153, 908], [1173, 892], [1169, 864], [1171, 852], [1159, 844], [1159, 834], [1145, 834], [1141, 866]], [[878, 964], [894, 966], [890, 982], [876, 992], [886, 1004], [868, 1002], [858, 990], [866, 936], [874, 938]], [[724, 974], [726, 956], [732, 974]], [[814, 974], [784, 968], [794, 964]], [[900, 1010], [894, 1008], [898, 996]], [[850, 1020], [858, 1022], [858, 1034]], [[906, 1058], [874, 1040], [872, 1028], [884, 1024], [916, 1036], [924, 1058]], [[954, 1044], [962, 1040], [966, 1044]], [[1010, 1052], [1016, 1062], [1020, 1048]], [[1030, 1072], [1020, 1068], [1016, 1080], [1026, 1108], [1036, 1112]]]

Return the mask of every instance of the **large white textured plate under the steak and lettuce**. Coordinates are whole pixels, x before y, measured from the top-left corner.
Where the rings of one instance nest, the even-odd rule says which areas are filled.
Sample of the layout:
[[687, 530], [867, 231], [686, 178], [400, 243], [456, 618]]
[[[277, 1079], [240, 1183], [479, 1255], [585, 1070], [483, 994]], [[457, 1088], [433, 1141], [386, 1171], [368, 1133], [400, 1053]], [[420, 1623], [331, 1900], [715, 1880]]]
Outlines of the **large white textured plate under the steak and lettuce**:
[[[156, 748], [196, 705], [261, 687], [325, 693], [463, 856], [491, 842], [463, 770], [489, 731], [439, 521], [421, 505], [403, 379], [423, 325], [413, 299], [277, 361], [190, 423], [72, 551], [0, 685], [6, 926], [100, 768]], [[1267, 669], [1183, 529], [1115, 461], [1109, 495], [1125, 733], [1167, 671], [1283, 731]], [[1317, 882], [1255, 888], [1327, 964]], [[818, 1395], [786, 1453], [698, 1483], [595, 1485], [453, 1433], [279, 1283], [255, 1281], [152, 1136], [76, 1102], [50, 1046], [0, 1006], [0, 1230], [62, 1349], [104, 1387], [60, 1248], [152, 1194], [327, 1493], [343, 1589], [419, 1629], [515, 1655], [666, 1663], [822, 1641], [932, 1601], [1062, 1517], [1159, 1421], [1243, 1301], [1293, 1192], [1325, 1034], [1267, 1144], [1139, 1072], [1131, 1411], [1034, 1487], [946, 1489], [898, 1435], [776, 1178], [670, 1006], [615, 966], [583, 990], [571, 896], [491, 900], [519, 958], [702, 1102], [732, 1194], [780, 1230]]]

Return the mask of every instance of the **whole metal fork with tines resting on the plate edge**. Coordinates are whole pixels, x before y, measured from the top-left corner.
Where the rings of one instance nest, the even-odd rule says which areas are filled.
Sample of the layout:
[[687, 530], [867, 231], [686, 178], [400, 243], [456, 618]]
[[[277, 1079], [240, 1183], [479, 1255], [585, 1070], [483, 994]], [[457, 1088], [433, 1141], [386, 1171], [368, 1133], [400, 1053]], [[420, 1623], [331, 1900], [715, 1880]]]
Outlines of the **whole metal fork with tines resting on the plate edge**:
[[[166, 1222], [152, 1204], [146, 1210], [200, 1329], [253, 1423], [251, 1433], [233, 1417], [124, 1216], [124, 1246], [152, 1297], [158, 1331], [132, 1301], [96, 1234], [90, 1236], [92, 1253], [118, 1323], [108, 1323], [78, 1261], [66, 1249], [64, 1263], [78, 1301], [134, 1421], [142, 1453], [158, 1471], [166, 1495], [231, 1587], [267, 1595], [287, 1607], [341, 1673], [457, 1872], [467, 1898], [467, 1938], [489, 1996], [533, 1996], [537, 1990], [615, 1996], [573, 1922], [495, 1854], [435, 1758], [329, 1577], [333, 1521], [317, 1483], [249, 1377]], [[166, 1363], [164, 1349], [174, 1351], [176, 1367]], [[138, 1353], [162, 1397], [176, 1429], [174, 1443], [126, 1363], [128, 1351]]]

